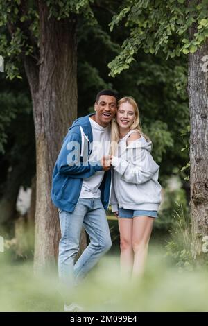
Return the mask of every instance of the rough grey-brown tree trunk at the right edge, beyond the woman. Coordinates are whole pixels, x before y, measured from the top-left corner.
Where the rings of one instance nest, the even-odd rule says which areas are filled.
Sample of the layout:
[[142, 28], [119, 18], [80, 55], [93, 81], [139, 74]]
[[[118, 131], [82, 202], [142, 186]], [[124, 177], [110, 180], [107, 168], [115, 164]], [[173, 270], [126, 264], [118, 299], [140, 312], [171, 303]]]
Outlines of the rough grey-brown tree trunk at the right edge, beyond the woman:
[[[190, 33], [195, 33], [194, 28]], [[191, 252], [194, 258], [202, 250], [202, 237], [208, 235], [208, 74], [202, 70], [205, 55], [208, 55], [208, 39], [198, 51], [189, 54]]]

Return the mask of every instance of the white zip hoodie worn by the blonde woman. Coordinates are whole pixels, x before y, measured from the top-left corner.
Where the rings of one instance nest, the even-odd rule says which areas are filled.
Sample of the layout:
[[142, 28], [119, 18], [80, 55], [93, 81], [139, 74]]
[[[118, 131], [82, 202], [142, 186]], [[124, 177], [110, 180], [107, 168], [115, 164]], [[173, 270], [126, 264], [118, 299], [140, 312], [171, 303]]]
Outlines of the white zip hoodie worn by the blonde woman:
[[161, 186], [158, 182], [159, 166], [150, 154], [152, 143], [141, 138], [126, 145], [135, 130], [130, 130], [118, 144], [119, 155], [112, 157], [112, 212], [119, 207], [133, 210], [156, 210], [161, 202]]

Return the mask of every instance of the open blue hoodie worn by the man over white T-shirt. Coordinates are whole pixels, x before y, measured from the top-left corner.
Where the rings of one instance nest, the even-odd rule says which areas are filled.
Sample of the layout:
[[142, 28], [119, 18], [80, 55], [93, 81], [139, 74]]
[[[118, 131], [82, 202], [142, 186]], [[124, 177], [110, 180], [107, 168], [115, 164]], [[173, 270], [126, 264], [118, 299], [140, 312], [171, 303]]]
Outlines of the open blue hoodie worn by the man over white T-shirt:
[[[53, 170], [53, 180], [51, 198], [53, 204], [67, 212], [73, 212], [84, 178], [90, 178], [97, 171], [102, 171], [101, 162], [90, 163], [87, 158], [92, 153], [90, 144], [93, 141], [92, 127], [89, 121], [89, 114], [76, 119], [64, 137], [62, 148], [55, 162]], [[74, 147], [72, 142], [78, 142], [80, 151], [77, 152], [76, 160], [73, 160]], [[86, 155], [87, 153], [87, 155]], [[71, 155], [70, 155], [71, 154]], [[87, 157], [86, 157], [87, 156]], [[104, 173], [103, 181], [99, 189], [101, 190], [101, 201], [104, 209], [107, 209], [110, 200], [111, 171]]]

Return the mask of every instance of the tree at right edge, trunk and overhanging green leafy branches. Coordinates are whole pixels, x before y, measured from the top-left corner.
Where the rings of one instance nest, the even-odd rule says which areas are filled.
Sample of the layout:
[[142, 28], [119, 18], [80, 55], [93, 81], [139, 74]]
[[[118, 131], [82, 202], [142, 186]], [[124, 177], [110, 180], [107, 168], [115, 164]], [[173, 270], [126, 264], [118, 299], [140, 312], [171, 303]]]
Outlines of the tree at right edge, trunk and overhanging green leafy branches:
[[202, 237], [208, 234], [208, 75], [207, 69], [202, 70], [208, 51], [208, 3], [126, 0], [120, 9], [112, 19], [111, 29], [126, 19], [130, 36], [123, 42], [121, 53], [110, 62], [112, 76], [128, 69], [139, 49], [155, 55], [163, 52], [166, 59], [189, 55], [192, 253], [196, 258], [202, 252]]

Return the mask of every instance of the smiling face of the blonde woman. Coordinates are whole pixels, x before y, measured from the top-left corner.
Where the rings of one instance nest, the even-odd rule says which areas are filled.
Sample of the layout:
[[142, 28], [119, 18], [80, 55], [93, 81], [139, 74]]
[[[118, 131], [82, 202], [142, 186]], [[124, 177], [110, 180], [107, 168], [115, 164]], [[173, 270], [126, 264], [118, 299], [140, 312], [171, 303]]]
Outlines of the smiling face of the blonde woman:
[[124, 102], [119, 105], [116, 121], [120, 128], [127, 129], [132, 126], [132, 123], [135, 121], [135, 110], [130, 103]]

